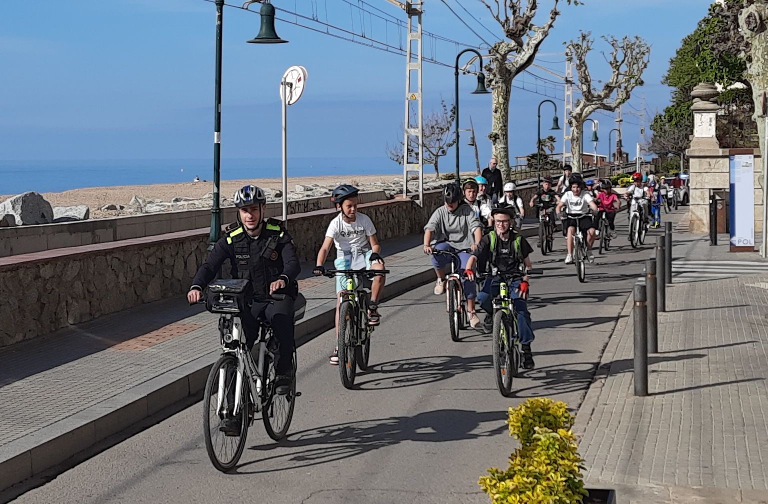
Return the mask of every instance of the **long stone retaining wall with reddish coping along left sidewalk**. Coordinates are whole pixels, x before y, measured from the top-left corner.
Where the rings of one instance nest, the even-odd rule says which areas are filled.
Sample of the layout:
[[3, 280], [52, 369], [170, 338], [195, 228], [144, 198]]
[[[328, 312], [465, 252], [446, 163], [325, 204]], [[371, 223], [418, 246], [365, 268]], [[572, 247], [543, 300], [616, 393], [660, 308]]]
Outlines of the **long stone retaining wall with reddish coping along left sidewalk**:
[[[361, 204], [382, 240], [422, 230], [441, 191]], [[334, 210], [289, 216], [301, 260], [314, 260]], [[183, 296], [207, 257], [208, 228], [0, 257], [0, 347], [143, 303]], [[226, 269], [226, 268], [225, 268]]]

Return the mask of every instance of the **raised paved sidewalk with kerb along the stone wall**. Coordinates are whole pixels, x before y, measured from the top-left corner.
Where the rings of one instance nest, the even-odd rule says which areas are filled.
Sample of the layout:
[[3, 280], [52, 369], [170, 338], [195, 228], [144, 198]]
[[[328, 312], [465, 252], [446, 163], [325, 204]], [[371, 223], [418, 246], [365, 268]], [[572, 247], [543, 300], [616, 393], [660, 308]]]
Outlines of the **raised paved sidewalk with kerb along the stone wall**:
[[[421, 246], [385, 260], [384, 300], [434, 280]], [[334, 282], [300, 280], [297, 345], [333, 327]], [[200, 310], [158, 301], [0, 349], [0, 491], [201, 393], [220, 347]]]

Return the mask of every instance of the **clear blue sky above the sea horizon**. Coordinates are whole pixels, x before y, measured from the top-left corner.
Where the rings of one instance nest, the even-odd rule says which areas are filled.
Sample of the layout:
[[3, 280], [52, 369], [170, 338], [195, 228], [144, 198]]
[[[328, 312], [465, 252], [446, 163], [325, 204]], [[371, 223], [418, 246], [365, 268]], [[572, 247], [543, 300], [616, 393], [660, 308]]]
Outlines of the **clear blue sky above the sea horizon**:
[[[293, 8], [294, 1], [311, 0], [273, 3]], [[402, 17], [385, 0], [367, 1]], [[447, 1], [457, 8], [456, 0]], [[459, 1], [488, 29], [499, 32], [478, 0]], [[551, 2], [540, 0], [541, 11], [548, 12]], [[441, 1], [426, 0], [425, 11], [426, 30], [479, 42]], [[641, 35], [652, 45], [651, 63], [646, 85], [631, 104], [640, 108], [644, 93], [647, 108], [654, 111], [668, 101], [668, 89], [659, 82], [667, 61], [706, 11], [706, 2], [694, 0], [587, 0], [575, 7], [561, 2], [561, 17], [541, 52], [563, 51], [562, 42], [577, 36], [579, 29], [594, 35]], [[2, 2], [0, 159], [210, 158], [214, 13], [214, 5], [204, 0]], [[463, 17], [478, 33], [490, 36]], [[303, 98], [290, 108], [291, 156], [383, 157], [385, 145], [400, 137], [405, 58], [285, 22], [278, 22], [277, 29], [289, 44], [246, 44], [256, 35], [258, 22], [258, 15], [225, 8], [223, 157], [280, 156], [278, 83], [290, 65], [304, 65], [310, 74]], [[595, 45], [604, 49], [599, 40]], [[602, 78], [607, 65], [599, 51], [593, 56], [593, 75]], [[556, 71], [564, 67], [562, 56], [541, 59], [558, 61], [545, 64]], [[424, 85], [427, 110], [441, 97], [452, 100], [452, 69], [425, 65]], [[468, 127], [471, 115], [485, 162], [490, 99], [469, 94], [474, 85], [471, 76], [462, 78], [462, 127]], [[513, 155], [535, 150], [535, 108], [544, 98], [514, 90]], [[607, 151], [611, 118], [593, 117], [601, 121], [602, 153]], [[636, 116], [625, 119], [640, 121]], [[624, 140], [625, 148], [634, 146], [637, 126], [625, 125]], [[470, 154], [471, 148], [462, 148], [462, 159]]]

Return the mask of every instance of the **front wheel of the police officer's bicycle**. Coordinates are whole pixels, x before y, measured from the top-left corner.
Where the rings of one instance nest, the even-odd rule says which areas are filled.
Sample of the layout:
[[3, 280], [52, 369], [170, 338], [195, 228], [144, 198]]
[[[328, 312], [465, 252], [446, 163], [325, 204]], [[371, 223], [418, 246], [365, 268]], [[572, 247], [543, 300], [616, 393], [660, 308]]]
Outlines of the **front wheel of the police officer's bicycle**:
[[[237, 357], [223, 355], [210, 368], [203, 395], [203, 437], [210, 463], [221, 472], [227, 472], [237, 466], [243, 455], [248, 434], [248, 410], [250, 397], [248, 387], [243, 380], [240, 394], [240, 413], [231, 416], [234, 404], [234, 387], [237, 383]], [[220, 405], [220, 407], [219, 407]], [[220, 431], [223, 419], [230, 417], [240, 421], [240, 433], [237, 436], [225, 436]]]

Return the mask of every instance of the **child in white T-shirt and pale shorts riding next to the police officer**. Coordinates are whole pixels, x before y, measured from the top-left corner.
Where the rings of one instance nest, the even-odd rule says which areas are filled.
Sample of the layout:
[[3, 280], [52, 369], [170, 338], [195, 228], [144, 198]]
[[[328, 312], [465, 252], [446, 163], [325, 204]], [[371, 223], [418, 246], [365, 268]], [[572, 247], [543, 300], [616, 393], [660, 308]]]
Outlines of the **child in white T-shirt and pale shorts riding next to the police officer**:
[[[383, 270], [384, 260], [379, 255], [381, 246], [376, 237], [376, 227], [366, 214], [357, 211], [359, 189], [349, 184], [343, 184], [331, 193], [331, 201], [336, 204], [339, 214], [328, 224], [326, 239], [323, 246], [317, 252], [316, 267], [313, 271], [316, 275], [326, 272], [323, 264], [331, 250], [331, 245], [336, 245], [336, 260], [333, 266], [337, 270]], [[384, 288], [384, 275], [373, 278], [371, 287], [371, 300], [369, 303], [368, 323], [378, 326], [379, 297]], [[336, 293], [346, 289], [345, 277], [336, 275]], [[336, 297], [336, 334], [339, 333], [339, 297]], [[332, 366], [339, 365], [339, 349], [333, 350], [330, 357]]]

